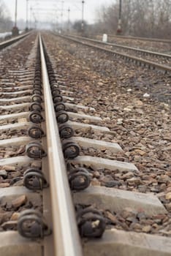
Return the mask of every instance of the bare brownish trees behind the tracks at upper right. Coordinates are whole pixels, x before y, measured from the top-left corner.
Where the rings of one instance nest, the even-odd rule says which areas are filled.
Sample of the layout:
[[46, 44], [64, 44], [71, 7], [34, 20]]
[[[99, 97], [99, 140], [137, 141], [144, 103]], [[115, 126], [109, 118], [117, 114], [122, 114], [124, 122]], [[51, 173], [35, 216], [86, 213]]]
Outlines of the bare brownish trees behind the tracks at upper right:
[[[119, 0], [96, 12], [96, 33], [115, 34]], [[171, 0], [123, 0], [122, 34], [137, 37], [171, 37]]]

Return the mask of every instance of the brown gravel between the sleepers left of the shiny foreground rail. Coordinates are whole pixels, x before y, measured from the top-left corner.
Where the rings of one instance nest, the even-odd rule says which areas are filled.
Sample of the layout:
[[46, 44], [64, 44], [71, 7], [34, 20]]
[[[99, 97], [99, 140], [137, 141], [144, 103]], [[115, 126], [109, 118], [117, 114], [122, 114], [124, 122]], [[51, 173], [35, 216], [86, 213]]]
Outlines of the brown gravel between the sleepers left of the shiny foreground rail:
[[[26, 97], [31, 95], [31, 92], [26, 89], [23, 94], [20, 94], [20, 91], [23, 89], [15, 89], [16, 86], [28, 86], [33, 84], [34, 73], [33, 67], [31, 67], [31, 61], [29, 60], [29, 55], [31, 53], [31, 48], [33, 48], [35, 39], [37, 35], [31, 34], [26, 39], [23, 39], [21, 42], [18, 42], [14, 47], [4, 49], [0, 52], [1, 59], [1, 69], [0, 69], [0, 97], [1, 99], [12, 99], [17, 97]], [[29, 57], [28, 57], [29, 56]], [[29, 62], [29, 64], [28, 64]], [[10, 72], [10, 71], [16, 72]], [[19, 71], [18, 71], [19, 70]], [[27, 71], [27, 75], [25, 74]], [[29, 74], [30, 72], [30, 74]], [[32, 75], [32, 78], [31, 76]], [[26, 79], [23, 79], [26, 78]], [[8, 88], [12, 88], [9, 89]], [[9, 92], [15, 92], [17, 94], [9, 94]], [[23, 90], [24, 91], [24, 90]], [[3, 93], [4, 92], [4, 93]], [[7, 93], [7, 94], [6, 94]], [[0, 114], [8, 115], [12, 113], [21, 113], [28, 111], [28, 107], [24, 107], [21, 110], [2, 109], [1, 106], [7, 105], [16, 105], [23, 102], [28, 102], [28, 99], [22, 99], [20, 101], [10, 101], [10, 102], [0, 102]], [[1, 120], [0, 125], [22, 123], [28, 121], [27, 118], [12, 118], [9, 120]], [[0, 133], [0, 140], [19, 138], [27, 136], [27, 129], [8, 129], [3, 130]], [[9, 157], [19, 157], [26, 155], [26, 146], [1, 146], [0, 147], [0, 159], [7, 159]], [[23, 187], [23, 173], [30, 167], [35, 167], [41, 170], [41, 161], [34, 161], [30, 164], [25, 164], [22, 166], [18, 165], [4, 165], [0, 166], [0, 189], [3, 192], [4, 188], [8, 189], [9, 187]], [[10, 188], [11, 189], [11, 188]], [[14, 190], [15, 191], [15, 190]], [[36, 192], [37, 193], [37, 192]], [[26, 209], [35, 209], [39, 212], [42, 212], [42, 195], [41, 192], [36, 194], [29, 193], [28, 195], [10, 195], [9, 197], [4, 196], [1, 198], [0, 205], [0, 231], [4, 230], [17, 230], [17, 220], [20, 215], [20, 212]]]

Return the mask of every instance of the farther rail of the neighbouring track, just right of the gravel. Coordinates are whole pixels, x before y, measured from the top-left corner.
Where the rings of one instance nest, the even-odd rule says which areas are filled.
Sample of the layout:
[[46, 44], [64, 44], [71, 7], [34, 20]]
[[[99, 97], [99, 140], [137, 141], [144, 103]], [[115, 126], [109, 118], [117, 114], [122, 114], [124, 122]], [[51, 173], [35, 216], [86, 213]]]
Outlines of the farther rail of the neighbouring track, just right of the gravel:
[[149, 55], [152, 55], [152, 56], [159, 56], [159, 57], [164, 57], [164, 58], [167, 58], [167, 59], [171, 59], [171, 55], [165, 54], [165, 53], [157, 53], [157, 52], [153, 52], [151, 50], [143, 50], [143, 49], [139, 49], [139, 48], [129, 47], [129, 46], [126, 46], [126, 45], [118, 45], [118, 44], [115, 44], [115, 43], [112, 43], [112, 42], [102, 42], [102, 41], [87, 38], [87, 37], [79, 37], [79, 36], [75, 36], [75, 35], [73, 35], [72, 37], [84, 39], [84, 40], [91, 41], [91, 42], [97, 42], [97, 43], [102, 44], [102, 45], [111, 45], [111, 46], [115, 46], [115, 47], [123, 48], [123, 49], [127, 49], [127, 50], [134, 50], [134, 51], [137, 51], [139, 53], [145, 53], [145, 54], [148, 53]]

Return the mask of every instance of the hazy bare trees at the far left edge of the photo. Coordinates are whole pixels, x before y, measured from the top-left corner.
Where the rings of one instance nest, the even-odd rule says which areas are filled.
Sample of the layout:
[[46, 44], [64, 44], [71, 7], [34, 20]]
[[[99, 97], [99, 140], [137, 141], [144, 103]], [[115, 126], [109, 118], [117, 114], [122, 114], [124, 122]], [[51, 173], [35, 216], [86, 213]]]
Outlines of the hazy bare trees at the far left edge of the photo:
[[12, 20], [9, 18], [7, 7], [4, 2], [0, 0], [0, 32], [11, 31]]

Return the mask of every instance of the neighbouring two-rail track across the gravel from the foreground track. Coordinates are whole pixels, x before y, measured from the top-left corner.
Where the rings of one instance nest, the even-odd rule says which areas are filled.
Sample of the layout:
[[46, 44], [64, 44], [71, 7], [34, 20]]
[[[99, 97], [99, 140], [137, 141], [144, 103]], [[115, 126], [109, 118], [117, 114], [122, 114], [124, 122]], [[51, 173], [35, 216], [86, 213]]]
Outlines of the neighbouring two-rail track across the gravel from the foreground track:
[[[156, 53], [156, 52], [152, 52], [149, 50], [141, 50], [141, 49], [137, 49], [137, 48], [130, 48], [130, 47], [127, 47], [124, 45], [116, 45], [113, 43], [102, 42], [102, 41], [99, 41], [96, 39], [88, 39], [86, 37], [77, 37], [77, 36], [61, 36], [61, 37], [73, 40], [74, 42], [79, 42], [80, 44], [87, 45], [87, 46], [90, 46], [90, 47], [93, 47], [93, 48], [96, 48], [96, 49], [99, 49], [102, 51], [106, 51], [107, 53], [110, 53], [113, 56], [120, 56], [122, 59], [125, 59], [126, 61], [133, 62], [134, 64], [137, 64], [139, 66], [149, 67], [150, 69], [158, 69], [163, 72], [171, 71], [171, 67], [170, 67], [171, 56], [167, 55], [167, 54]], [[75, 37], [77, 39], [75, 39]], [[86, 41], [90, 41], [92, 43], [89, 43]], [[102, 45], [104, 45], [104, 47], [99, 47], [98, 44], [102, 44]], [[105, 47], [106, 45], [115, 47], [115, 48], [121, 48], [123, 51], [125, 51], [125, 50], [129, 50], [129, 52], [133, 51], [133, 53], [136, 53], [136, 55], [138, 55], [138, 56], [134, 56], [134, 55], [130, 55], [125, 52], [121, 52], [121, 50], [119, 50], [119, 51], [111, 50], [109, 48], [106, 48]], [[143, 59], [141, 56], [143, 56]], [[145, 56], [145, 58], [147, 58], [146, 56], [148, 56], [148, 58], [145, 59], [144, 56]], [[153, 56], [154, 61], [151, 61], [151, 56]], [[159, 59], [161, 59], [161, 60], [159, 60]], [[162, 64], [163, 62], [164, 62], [164, 64]]]

